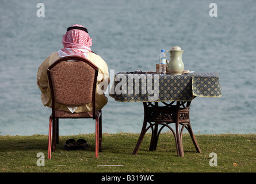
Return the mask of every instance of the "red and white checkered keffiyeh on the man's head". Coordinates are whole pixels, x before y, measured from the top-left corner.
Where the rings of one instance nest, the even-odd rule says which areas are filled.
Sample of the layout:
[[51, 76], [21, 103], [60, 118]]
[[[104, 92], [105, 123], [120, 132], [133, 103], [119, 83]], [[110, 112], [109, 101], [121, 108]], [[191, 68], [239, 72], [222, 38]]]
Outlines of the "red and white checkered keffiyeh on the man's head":
[[[83, 27], [82, 25], [75, 24], [73, 26], [79, 26]], [[63, 35], [62, 44], [64, 48], [60, 49], [58, 51], [58, 54], [60, 57], [65, 56], [81, 56], [81, 57], [87, 57], [87, 53], [91, 52], [91, 38], [89, 37], [89, 34], [86, 33], [84, 30], [80, 29], [71, 29], [66, 32], [66, 34]]]

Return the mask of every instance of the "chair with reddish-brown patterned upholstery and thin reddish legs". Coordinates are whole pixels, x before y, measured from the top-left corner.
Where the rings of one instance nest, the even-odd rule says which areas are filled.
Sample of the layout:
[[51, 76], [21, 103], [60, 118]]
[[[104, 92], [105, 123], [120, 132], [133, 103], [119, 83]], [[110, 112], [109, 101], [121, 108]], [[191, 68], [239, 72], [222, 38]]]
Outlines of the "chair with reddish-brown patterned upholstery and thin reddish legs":
[[[59, 143], [59, 118], [93, 118], [95, 120], [95, 158], [101, 152], [102, 116], [95, 110], [95, 90], [98, 67], [78, 56], [62, 57], [47, 68], [51, 88], [52, 114], [49, 117], [48, 159]], [[91, 112], [71, 113], [55, 109], [56, 103], [76, 108], [92, 104]]]

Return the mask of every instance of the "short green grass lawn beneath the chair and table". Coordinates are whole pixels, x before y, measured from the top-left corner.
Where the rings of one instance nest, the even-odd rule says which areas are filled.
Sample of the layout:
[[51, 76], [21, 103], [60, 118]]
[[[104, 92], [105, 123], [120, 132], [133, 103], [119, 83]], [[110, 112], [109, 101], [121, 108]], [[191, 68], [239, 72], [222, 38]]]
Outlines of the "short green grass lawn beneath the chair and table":
[[[47, 158], [48, 136], [0, 136], [1, 173], [254, 173], [256, 135], [196, 135], [202, 153], [196, 152], [189, 134], [184, 133], [184, 157], [178, 157], [171, 133], [162, 133], [156, 151], [148, 151], [150, 133], [137, 155], [132, 155], [139, 134], [104, 133], [102, 152], [94, 158], [94, 134], [60, 136], [52, 159]], [[67, 139], [86, 139], [86, 151], [64, 151]], [[45, 155], [37, 166], [37, 153]], [[217, 166], [209, 166], [209, 154], [217, 154]], [[99, 165], [123, 165], [98, 167]]]

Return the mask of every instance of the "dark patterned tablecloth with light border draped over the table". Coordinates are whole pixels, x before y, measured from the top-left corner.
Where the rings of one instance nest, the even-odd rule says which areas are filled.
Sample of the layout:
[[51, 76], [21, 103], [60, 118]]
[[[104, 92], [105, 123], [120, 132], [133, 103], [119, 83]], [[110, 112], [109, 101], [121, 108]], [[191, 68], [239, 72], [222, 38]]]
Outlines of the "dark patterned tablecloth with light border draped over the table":
[[110, 97], [121, 102], [192, 101], [195, 97], [221, 97], [216, 73], [183, 75], [119, 72]]

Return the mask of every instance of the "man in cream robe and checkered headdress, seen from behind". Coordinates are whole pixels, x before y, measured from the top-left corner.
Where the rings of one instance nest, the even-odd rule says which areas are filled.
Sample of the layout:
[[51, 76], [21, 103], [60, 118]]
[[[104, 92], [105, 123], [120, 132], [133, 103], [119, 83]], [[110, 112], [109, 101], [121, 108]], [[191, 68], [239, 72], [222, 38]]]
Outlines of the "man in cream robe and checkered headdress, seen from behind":
[[[95, 94], [95, 108], [96, 110], [102, 109], [108, 102], [108, 98], [105, 97], [102, 91], [102, 82], [108, 85], [109, 72], [106, 62], [94, 52], [91, 51], [92, 45], [91, 38], [87, 32], [87, 29], [79, 24], [72, 25], [67, 29], [66, 34], [63, 35], [62, 44], [64, 48], [58, 52], [54, 52], [44, 60], [37, 72], [37, 86], [41, 91], [41, 101], [44, 106], [52, 107], [51, 102], [51, 90], [47, 78], [47, 68], [60, 57], [65, 56], [80, 56], [85, 57], [90, 62], [94, 63], [98, 68], [97, 87]], [[106, 89], [106, 87], [104, 87]], [[100, 92], [100, 93], [99, 93]], [[70, 112], [66, 105], [56, 104], [55, 108], [58, 110], [64, 110]], [[75, 113], [89, 112], [93, 109], [92, 103], [79, 106], [75, 109]], [[72, 112], [73, 113], [73, 112]]]

